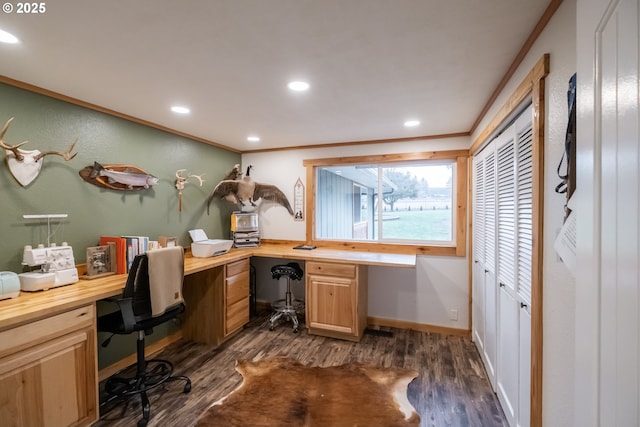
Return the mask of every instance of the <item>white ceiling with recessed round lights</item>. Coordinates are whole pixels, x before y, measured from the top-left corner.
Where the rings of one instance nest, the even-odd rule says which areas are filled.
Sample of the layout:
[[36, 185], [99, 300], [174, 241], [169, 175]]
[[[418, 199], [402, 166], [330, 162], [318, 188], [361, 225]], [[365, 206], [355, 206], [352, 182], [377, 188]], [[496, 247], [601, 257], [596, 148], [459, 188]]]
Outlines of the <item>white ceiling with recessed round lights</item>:
[[55, 0], [0, 74], [241, 151], [467, 132], [548, 4]]

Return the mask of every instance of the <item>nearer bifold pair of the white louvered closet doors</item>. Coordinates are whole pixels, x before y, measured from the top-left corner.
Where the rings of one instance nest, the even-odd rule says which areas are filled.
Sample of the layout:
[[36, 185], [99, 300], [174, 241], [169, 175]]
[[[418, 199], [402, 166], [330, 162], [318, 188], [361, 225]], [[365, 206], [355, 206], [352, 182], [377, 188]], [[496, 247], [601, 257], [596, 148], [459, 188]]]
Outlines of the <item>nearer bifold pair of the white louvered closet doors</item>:
[[528, 426], [530, 412], [531, 122], [531, 108], [527, 108], [496, 140], [499, 282], [496, 392], [512, 426]]

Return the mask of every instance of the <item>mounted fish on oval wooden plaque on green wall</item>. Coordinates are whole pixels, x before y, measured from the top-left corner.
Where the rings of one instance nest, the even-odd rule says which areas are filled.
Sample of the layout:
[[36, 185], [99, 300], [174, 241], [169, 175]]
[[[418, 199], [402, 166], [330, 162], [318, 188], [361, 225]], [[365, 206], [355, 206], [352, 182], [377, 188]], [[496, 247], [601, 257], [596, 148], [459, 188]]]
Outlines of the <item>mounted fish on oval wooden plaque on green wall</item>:
[[158, 183], [158, 178], [132, 165], [101, 165], [94, 162], [80, 171], [90, 184], [111, 190], [143, 190]]

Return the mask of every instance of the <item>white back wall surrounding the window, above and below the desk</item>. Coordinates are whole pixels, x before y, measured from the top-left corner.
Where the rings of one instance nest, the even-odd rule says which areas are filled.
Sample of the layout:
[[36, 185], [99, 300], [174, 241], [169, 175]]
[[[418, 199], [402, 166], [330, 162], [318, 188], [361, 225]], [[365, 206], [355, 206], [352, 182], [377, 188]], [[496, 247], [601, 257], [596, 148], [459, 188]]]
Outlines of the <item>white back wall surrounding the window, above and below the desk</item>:
[[[242, 156], [243, 167], [255, 166], [253, 178], [275, 184], [293, 200], [293, 186], [298, 178], [306, 183], [305, 159], [363, 156], [390, 153], [413, 153], [469, 148], [467, 137], [434, 139], [406, 143], [248, 153]], [[305, 240], [305, 222], [294, 221], [281, 207], [260, 206], [260, 227], [264, 239]], [[284, 284], [265, 289], [265, 278], [273, 260], [256, 260], [259, 300], [281, 298]], [[415, 269], [369, 267], [369, 316], [426, 325], [466, 329], [469, 326], [469, 274], [466, 257], [418, 257]], [[280, 294], [281, 295], [281, 294]], [[297, 296], [298, 294], [296, 294]], [[458, 320], [450, 320], [449, 310], [458, 311]]]

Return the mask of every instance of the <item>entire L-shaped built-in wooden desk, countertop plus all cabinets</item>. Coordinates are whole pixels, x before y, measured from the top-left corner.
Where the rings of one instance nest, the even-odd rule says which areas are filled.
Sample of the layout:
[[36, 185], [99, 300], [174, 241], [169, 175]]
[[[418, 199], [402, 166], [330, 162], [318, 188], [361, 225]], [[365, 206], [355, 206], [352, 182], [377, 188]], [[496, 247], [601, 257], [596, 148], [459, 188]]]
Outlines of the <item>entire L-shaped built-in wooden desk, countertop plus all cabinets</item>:
[[[346, 339], [359, 339], [362, 313], [366, 322], [366, 266], [416, 264], [415, 255], [292, 246], [263, 244], [211, 258], [187, 253], [184, 336], [216, 343], [241, 329], [240, 311], [247, 311], [248, 321], [252, 256], [309, 261], [307, 300], [315, 298], [310, 332]], [[0, 301], [0, 413], [13, 417], [9, 425], [90, 425], [98, 419], [96, 301], [120, 295], [126, 280], [125, 274], [80, 280]], [[348, 297], [358, 313], [352, 325], [323, 311]]]

